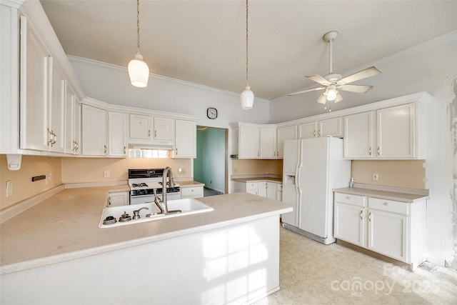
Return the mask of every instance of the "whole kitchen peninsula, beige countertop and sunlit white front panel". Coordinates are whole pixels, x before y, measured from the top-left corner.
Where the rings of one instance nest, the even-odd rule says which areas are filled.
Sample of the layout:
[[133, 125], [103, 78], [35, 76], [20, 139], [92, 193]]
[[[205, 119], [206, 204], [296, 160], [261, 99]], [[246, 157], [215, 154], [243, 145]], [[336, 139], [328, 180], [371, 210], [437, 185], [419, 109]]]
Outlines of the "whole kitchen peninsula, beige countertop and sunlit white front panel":
[[101, 229], [109, 190], [64, 189], [1, 224], [1, 304], [243, 304], [279, 289], [288, 204], [211, 196], [211, 212]]

